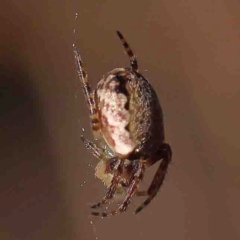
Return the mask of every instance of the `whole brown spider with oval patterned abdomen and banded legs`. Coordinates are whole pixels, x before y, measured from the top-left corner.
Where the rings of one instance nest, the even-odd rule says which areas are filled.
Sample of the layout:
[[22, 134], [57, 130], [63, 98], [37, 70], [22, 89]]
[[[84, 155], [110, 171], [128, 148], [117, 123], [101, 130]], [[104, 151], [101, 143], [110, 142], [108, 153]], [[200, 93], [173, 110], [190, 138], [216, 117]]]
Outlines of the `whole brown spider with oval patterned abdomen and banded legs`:
[[[82, 82], [90, 110], [90, 121], [95, 141], [81, 139], [85, 147], [99, 160], [95, 176], [107, 187], [106, 195], [92, 206], [92, 215], [110, 217], [125, 212], [133, 196], [146, 196], [135, 210], [140, 212], [159, 191], [172, 158], [171, 147], [165, 142], [163, 113], [158, 97], [149, 81], [139, 72], [135, 54], [123, 35], [117, 31], [130, 67], [115, 68], [92, 90], [77, 46], [74, 56], [78, 78]], [[139, 185], [146, 168], [161, 163], [146, 191]], [[123, 201], [114, 211], [96, 209], [122, 196]]]

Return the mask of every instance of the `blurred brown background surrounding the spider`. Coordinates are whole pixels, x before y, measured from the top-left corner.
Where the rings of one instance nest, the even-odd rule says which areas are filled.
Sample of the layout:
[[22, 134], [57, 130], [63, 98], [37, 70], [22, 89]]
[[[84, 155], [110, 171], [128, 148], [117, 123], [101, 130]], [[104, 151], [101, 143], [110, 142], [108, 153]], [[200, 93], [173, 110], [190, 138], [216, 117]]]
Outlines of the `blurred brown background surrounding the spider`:
[[[239, 10], [237, 0], [1, 1], [0, 239], [240, 239]], [[81, 127], [91, 133], [72, 43], [96, 84], [128, 65], [117, 29], [158, 92], [174, 158], [148, 208], [132, 215], [137, 199], [102, 220], [90, 216], [104, 188], [80, 140]]]

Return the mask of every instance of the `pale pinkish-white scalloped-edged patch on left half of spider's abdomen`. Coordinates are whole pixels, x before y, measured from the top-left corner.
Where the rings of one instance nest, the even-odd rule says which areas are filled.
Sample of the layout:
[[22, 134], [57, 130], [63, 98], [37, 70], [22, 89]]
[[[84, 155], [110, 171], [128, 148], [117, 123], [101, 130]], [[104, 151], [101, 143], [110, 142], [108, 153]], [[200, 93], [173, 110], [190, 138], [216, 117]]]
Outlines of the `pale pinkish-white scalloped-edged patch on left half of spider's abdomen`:
[[117, 154], [129, 155], [136, 147], [128, 126], [129, 92], [124, 69], [115, 69], [100, 80], [97, 88], [98, 114], [103, 138]]

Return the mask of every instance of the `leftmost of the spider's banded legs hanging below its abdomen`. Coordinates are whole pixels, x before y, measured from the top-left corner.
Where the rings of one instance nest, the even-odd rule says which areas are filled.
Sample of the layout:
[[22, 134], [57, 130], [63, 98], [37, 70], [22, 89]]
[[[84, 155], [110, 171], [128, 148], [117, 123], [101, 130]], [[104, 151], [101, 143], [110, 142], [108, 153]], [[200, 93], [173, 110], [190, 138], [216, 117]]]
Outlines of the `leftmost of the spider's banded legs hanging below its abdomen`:
[[[107, 193], [104, 196], [104, 198], [100, 202], [92, 205], [91, 208], [99, 208], [99, 207], [101, 207], [108, 200], [112, 199], [114, 194], [115, 194], [115, 192], [116, 192], [117, 186], [118, 186], [119, 181], [121, 179], [121, 174], [122, 174], [122, 171], [123, 171], [124, 160], [123, 159], [113, 158], [113, 159], [110, 159], [109, 162], [111, 162], [111, 160], [113, 160], [112, 162], [114, 162], [114, 174], [113, 174], [112, 182], [109, 185]], [[92, 214], [95, 215], [94, 212]]]

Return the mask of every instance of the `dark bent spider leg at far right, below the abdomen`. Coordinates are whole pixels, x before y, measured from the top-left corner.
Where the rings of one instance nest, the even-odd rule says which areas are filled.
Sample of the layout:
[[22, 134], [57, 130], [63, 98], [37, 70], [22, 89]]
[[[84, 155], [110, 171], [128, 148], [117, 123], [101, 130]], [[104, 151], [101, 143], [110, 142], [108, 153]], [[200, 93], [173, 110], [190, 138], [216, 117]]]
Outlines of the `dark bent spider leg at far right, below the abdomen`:
[[139, 206], [135, 214], [139, 213], [143, 210], [151, 201], [152, 199], [157, 195], [157, 192], [159, 191], [160, 187], [162, 186], [162, 183], [164, 181], [164, 178], [167, 173], [167, 169], [169, 166], [169, 163], [172, 159], [172, 150], [169, 144], [165, 143], [161, 150], [160, 150], [162, 162], [160, 163], [160, 166], [153, 178], [153, 181], [148, 189], [148, 198], [143, 202], [141, 206]]

